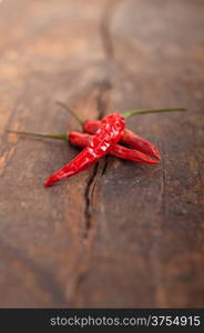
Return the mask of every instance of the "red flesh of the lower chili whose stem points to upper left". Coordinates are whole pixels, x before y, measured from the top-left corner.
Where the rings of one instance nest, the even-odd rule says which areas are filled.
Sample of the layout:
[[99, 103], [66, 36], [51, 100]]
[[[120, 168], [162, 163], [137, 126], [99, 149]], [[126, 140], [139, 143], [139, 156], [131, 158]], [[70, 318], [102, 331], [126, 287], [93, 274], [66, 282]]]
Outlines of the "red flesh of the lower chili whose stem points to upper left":
[[[100, 120], [86, 120], [83, 123], [84, 131], [90, 134], [94, 134], [98, 131], [99, 127]], [[149, 142], [147, 140], [133, 133], [130, 130], [124, 129], [120, 141], [130, 144], [139, 151], [160, 160], [160, 152], [157, 148], [153, 143]]]

